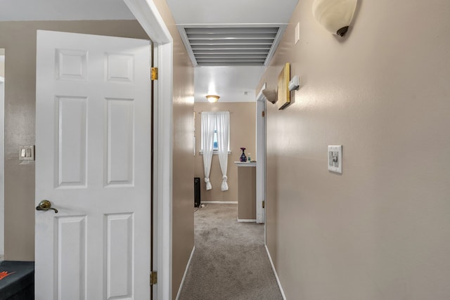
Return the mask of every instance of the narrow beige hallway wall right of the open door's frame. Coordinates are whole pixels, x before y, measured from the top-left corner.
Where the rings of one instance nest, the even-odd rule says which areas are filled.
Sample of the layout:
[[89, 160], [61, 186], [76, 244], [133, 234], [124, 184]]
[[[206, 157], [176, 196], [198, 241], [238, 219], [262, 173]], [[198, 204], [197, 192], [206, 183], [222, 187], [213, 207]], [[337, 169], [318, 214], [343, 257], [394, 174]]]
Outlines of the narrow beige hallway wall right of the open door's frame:
[[165, 0], [155, 1], [174, 39], [173, 192], [172, 192], [172, 298], [176, 298], [194, 247], [193, 99], [191, 60]]

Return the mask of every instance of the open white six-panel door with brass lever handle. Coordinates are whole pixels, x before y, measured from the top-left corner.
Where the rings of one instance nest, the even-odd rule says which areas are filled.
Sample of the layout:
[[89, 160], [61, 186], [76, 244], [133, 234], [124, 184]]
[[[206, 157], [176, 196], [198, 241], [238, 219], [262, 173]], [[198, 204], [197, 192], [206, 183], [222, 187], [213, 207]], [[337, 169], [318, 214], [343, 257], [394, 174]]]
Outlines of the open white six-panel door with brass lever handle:
[[150, 41], [37, 32], [37, 300], [150, 299]]

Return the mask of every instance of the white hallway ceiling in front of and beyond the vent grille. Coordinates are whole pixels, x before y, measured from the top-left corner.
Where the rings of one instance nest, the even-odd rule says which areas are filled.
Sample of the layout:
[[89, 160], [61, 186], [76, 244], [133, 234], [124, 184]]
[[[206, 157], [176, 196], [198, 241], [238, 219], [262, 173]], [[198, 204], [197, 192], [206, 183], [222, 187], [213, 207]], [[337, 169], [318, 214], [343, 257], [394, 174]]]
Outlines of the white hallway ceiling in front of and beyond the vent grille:
[[[288, 23], [298, 0], [167, 0], [177, 25], [264, 25]], [[195, 67], [195, 102], [214, 93], [220, 102], [255, 101], [265, 67]], [[212, 88], [214, 87], [214, 88]], [[245, 95], [247, 92], [247, 95]]]

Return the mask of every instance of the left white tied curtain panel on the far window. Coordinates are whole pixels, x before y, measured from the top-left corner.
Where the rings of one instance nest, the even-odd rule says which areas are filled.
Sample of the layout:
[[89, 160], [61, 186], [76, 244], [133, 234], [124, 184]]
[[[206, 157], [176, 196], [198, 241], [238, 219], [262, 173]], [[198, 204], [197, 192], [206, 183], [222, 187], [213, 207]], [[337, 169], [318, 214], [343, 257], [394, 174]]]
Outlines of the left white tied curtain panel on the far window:
[[202, 112], [202, 150], [203, 168], [205, 169], [206, 190], [211, 190], [210, 171], [212, 161], [212, 148], [214, 147], [214, 112]]

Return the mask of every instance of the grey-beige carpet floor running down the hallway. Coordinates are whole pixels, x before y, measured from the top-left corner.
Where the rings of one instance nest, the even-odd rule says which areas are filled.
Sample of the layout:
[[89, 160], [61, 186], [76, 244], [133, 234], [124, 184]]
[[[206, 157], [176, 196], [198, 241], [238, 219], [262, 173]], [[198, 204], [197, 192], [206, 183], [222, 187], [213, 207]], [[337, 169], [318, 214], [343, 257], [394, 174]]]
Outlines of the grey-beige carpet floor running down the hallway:
[[264, 225], [238, 223], [237, 204], [195, 211], [195, 252], [179, 300], [282, 300]]

